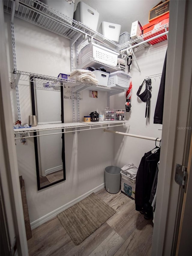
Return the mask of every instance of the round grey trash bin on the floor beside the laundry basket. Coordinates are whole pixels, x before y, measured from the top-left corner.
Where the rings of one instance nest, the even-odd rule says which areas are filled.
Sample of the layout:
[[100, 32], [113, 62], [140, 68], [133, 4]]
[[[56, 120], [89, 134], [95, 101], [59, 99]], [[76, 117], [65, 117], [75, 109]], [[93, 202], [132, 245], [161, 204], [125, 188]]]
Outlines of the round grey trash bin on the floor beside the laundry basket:
[[105, 168], [105, 188], [107, 192], [116, 194], [121, 185], [121, 168], [117, 166], [107, 166]]

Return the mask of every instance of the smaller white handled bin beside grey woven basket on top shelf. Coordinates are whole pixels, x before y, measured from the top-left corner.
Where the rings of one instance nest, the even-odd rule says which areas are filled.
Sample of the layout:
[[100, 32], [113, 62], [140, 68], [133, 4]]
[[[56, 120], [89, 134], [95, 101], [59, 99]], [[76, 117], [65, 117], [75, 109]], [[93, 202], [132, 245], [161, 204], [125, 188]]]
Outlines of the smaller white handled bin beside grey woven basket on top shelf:
[[108, 38], [116, 43], [119, 42], [121, 25], [102, 21], [101, 27], [102, 27], [102, 35], [104, 35], [106, 38]]

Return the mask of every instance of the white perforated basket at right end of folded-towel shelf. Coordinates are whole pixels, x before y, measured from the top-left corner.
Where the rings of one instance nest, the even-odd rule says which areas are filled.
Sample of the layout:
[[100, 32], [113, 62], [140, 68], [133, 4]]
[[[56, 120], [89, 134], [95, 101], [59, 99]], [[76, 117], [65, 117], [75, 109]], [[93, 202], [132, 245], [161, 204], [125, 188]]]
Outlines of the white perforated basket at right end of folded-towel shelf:
[[118, 87], [118, 88], [125, 88], [127, 89], [129, 87], [129, 80], [130, 75], [122, 72], [122, 71], [116, 71], [110, 74], [108, 79], [108, 87]]

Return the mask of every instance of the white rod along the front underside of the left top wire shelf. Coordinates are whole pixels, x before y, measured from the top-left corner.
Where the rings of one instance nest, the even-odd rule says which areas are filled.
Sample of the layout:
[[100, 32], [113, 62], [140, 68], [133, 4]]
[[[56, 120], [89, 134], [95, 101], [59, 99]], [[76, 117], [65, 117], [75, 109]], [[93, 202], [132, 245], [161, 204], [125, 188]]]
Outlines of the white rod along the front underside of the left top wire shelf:
[[[52, 17], [52, 16], [50, 16], [49, 14], [45, 14], [45, 13], [43, 13], [42, 11], [37, 10], [37, 9], [34, 8], [33, 6], [26, 5], [25, 3], [22, 3], [22, 2], [20, 2], [20, 1], [19, 1], [19, 4], [22, 5], [22, 6], [24, 6], [24, 7], [26, 7], [26, 8], [32, 9], [33, 11], [37, 12], [38, 14], [41, 14], [41, 15], [43, 15], [44, 17], [48, 17], [49, 19], [54, 20], [54, 21], [60, 23], [61, 25], [64, 25], [64, 26], [66, 26], [66, 27], [68, 27], [68, 28], [70, 28], [70, 29], [72, 29], [72, 30], [75, 30], [76, 32], [79, 32], [79, 33], [81, 33], [81, 34], [84, 35], [84, 36], [87, 35], [90, 40], [91, 40], [91, 38], [93, 38], [93, 36], [88, 35], [86, 32], [84, 32], [84, 31], [82, 31], [82, 30], [80, 30], [80, 29], [74, 28], [74, 27], [71, 26], [70, 24], [67, 24], [67, 23], [62, 22], [62, 21], [60, 21], [60, 20], [57, 20], [57, 19], [55, 19], [55, 17]], [[79, 26], [80, 26], [80, 25], [79, 25]], [[92, 33], [93, 33], [93, 32], [92, 32]], [[62, 36], [62, 35], [61, 35], [61, 36]], [[94, 39], [95, 41], [98, 41], [99, 43], [101, 43], [101, 44], [107, 46], [108, 48], [110, 48], [111, 50], [114, 51], [114, 48], [113, 48], [113, 47], [110, 47], [108, 44], [102, 42], [101, 40], [99, 40], [99, 39], [97, 39], [97, 38], [93, 38], [93, 39]], [[125, 57], [127, 57], [127, 55], [126, 55], [125, 53], [122, 53], [121, 51], [115, 50], [115, 52], [116, 52], [116, 53], [119, 53], [119, 54], [121, 54], [121, 55], [123, 55], [123, 56], [125, 56]]]

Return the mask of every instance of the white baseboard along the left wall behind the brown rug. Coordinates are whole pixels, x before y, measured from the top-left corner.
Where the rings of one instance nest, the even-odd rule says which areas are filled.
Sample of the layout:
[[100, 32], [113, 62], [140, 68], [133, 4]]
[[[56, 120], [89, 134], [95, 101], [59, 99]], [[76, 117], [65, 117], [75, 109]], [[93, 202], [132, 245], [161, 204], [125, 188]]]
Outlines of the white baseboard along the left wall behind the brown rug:
[[54, 218], [55, 216], [57, 216], [58, 213], [64, 211], [65, 209], [69, 208], [70, 206], [78, 203], [79, 201], [81, 201], [82, 199], [84, 199], [85, 197], [87, 197], [88, 195], [90, 195], [93, 192], [97, 192], [99, 190], [101, 190], [102, 188], [105, 187], [105, 183], [99, 185], [96, 188], [91, 189], [90, 191], [88, 191], [87, 193], [83, 194], [80, 197], [77, 197], [76, 199], [70, 201], [69, 203], [64, 204], [63, 206], [59, 207], [58, 209], [49, 212], [48, 214], [46, 214], [45, 216], [39, 218], [36, 221], [33, 221], [31, 224], [31, 229], [34, 229], [36, 227], [39, 227], [40, 225], [44, 224], [45, 222], [51, 220], [52, 218]]

